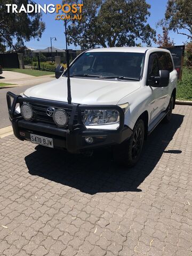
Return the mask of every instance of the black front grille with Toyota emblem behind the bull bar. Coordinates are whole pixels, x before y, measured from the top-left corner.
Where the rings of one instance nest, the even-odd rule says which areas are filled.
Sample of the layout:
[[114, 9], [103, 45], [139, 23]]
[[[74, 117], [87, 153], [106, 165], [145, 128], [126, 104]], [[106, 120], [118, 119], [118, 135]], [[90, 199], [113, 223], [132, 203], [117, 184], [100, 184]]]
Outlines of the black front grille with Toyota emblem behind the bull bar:
[[[35, 122], [42, 122], [42, 123], [55, 125], [55, 123], [53, 121], [53, 117], [48, 116], [46, 114], [47, 108], [53, 107], [53, 106], [45, 106], [45, 105], [39, 105], [39, 104], [35, 104], [35, 103], [30, 103], [30, 105], [32, 106], [32, 108], [34, 110], [34, 121]], [[56, 107], [54, 107], [54, 108], [58, 109]], [[68, 118], [70, 119], [72, 109], [69, 109], [69, 108], [62, 108], [62, 109], [64, 109], [66, 111]], [[84, 111], [81, 113], [81, 116], [83, 118]], [[75, 114], [75, 117], [74, 117], [74, 124], [77, 124], [77, 113]]]

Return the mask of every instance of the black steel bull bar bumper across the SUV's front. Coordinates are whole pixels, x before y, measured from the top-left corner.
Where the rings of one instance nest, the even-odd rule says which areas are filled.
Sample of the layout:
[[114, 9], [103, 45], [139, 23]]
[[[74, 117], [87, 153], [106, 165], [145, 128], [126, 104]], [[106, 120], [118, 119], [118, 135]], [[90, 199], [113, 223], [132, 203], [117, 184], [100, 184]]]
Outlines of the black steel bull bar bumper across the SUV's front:
[[[13, 102], [11, 103], [11, 98]], [[15, 113], [17, 103], [22, 105], [22, 102], [39, 103], [47, 106], [60, 108], [71, 108], [68, 129], [59, 128], [52, 124], [41, 122], [30, 122], [22, 118], [20, 114]], [[13, 126], [15, 137], [20, 140], [30, 140], [30, 134], [41, 135], [52, 138], [55, 148], [67, 149], [70, 153], [80, 153], [81, 151], [91, 150], [93, 148], [110, 146], [122, 143], [124, 140], [131, 137], [132, 130], [124, 126], [124, 112], [118, 106], [82, 106], [68, 105], [67, 103], [42, 100], [36, 98], [23, 98], [20, 95], [7, 93], [7, 106], [9, 109], [10, 121]], [[119, 112], [119, 127], [117, 130], [88, 130], [82, 123], [81, 110], [85, 109], [116, 109]], [[74, 116], [78, 115], [78, 123], [74, 124]], [[88, 144], [85, 137], [92, 137], [93, 143]]]

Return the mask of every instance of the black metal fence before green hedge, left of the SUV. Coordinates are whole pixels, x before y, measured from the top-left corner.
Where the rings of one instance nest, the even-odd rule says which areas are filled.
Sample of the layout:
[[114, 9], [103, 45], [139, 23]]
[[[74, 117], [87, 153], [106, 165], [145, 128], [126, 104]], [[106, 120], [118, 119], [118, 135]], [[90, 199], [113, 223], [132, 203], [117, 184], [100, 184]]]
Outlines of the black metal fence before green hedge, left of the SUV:
[[55, 71], [55, 60], [46, 57], [23, 57], [23, 67], [44, 71]]

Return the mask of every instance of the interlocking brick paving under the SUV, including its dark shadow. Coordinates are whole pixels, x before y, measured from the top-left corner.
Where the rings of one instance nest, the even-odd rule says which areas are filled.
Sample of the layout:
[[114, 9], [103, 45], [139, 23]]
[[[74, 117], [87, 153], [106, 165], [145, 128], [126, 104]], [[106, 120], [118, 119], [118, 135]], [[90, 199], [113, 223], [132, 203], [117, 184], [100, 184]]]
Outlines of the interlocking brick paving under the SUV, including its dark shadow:
[[191, 256], [192, 107], [176, 106], [139, 164], [0, 140], [0, 255]]

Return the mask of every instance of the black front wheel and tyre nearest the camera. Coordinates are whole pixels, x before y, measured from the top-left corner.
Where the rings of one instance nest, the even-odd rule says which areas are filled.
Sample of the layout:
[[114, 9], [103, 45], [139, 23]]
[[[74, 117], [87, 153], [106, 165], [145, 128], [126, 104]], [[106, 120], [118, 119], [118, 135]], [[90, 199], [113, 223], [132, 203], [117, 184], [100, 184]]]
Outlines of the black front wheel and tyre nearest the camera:
[[130, 139], [113, 148], [114, 161], [128, 167], [137, 164], [141, 156], [144, 136], [145, 125], [143, 120], [139, 119]]

